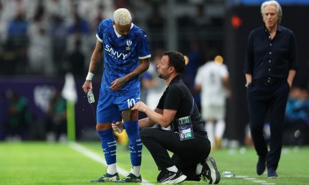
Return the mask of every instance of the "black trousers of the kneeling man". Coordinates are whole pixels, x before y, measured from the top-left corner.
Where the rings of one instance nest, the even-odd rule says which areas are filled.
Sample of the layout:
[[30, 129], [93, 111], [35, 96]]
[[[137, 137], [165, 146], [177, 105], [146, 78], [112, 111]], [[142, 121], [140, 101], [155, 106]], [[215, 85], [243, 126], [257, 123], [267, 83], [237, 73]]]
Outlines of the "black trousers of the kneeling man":
[[[206, 134], [194, 132], [194, 139], [179, 139], [179, 134], [159, 128], [144, 128], [140, 132], [141, 142], [150, 151], [159, 170], [176, 165], [186, 180], [199, 181], [196, 175], [196, 164], [203, 162], [210, 152], [210, 142]], [[173, 154], [170, 158], [168, 151]]]

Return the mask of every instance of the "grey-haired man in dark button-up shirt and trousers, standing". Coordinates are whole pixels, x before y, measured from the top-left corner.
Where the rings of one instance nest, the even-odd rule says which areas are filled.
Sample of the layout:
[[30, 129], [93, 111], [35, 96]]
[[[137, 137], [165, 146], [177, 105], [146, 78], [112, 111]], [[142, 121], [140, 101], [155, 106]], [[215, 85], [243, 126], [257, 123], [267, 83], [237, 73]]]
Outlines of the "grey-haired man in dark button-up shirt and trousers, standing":
[[[244, 64], [250, 130], [258, 153], [256, 172], [278, 177], [282, 150], [282, 132], [288, 92], [297, 70], [297, 48], [293, 32], [279, 25], [282, 8], [277, 1], [261, 5], [264, 26], [249, 34]], [[271, 140], [269, 151], [263, 137], [267, 111], [270, 110]]]

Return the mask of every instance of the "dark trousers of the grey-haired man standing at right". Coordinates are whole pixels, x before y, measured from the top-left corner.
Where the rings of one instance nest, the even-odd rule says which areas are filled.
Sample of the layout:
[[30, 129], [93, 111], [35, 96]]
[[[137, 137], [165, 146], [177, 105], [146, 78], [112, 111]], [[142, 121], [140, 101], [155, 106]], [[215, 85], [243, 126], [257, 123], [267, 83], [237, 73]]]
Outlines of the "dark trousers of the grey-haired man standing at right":
[[[271, 84], [253, 82], [247, 89], [251, 136], [258, 156], [266, 157], [268, 169], [276, 170], [278, 167], [289, 90], [286, 80]], [[269, 151], [263, 136], [263, 127], [268, 110], [271, 113]]]

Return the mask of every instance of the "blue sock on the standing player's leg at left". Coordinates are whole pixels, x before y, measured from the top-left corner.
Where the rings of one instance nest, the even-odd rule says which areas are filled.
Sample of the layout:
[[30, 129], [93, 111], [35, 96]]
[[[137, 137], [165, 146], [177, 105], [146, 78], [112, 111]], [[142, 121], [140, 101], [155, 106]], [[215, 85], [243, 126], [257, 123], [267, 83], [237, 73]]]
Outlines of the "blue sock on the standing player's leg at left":
[[113, 130], [98, 131], [101, 141], [102, 150], [107, 164], [114, 164], [116, 162], [116, 147], [117, 143], [113, 135]]

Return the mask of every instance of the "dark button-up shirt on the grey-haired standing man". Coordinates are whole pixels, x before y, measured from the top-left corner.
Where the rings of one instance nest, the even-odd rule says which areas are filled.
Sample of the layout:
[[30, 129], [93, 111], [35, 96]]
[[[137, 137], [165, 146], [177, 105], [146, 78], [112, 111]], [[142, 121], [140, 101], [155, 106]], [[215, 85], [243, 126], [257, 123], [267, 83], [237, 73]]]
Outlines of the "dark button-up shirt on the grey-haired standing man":
[[297, 47], [293, 32], [278, 25], [271, 39], [266, 27], [253, 29], [247, 42], [244, 73], [256, 79], [287, 79], [290, 69], [297, 70]]

